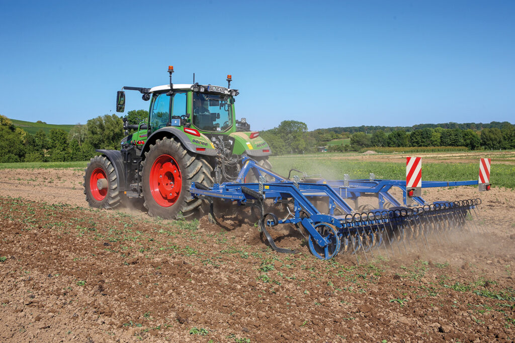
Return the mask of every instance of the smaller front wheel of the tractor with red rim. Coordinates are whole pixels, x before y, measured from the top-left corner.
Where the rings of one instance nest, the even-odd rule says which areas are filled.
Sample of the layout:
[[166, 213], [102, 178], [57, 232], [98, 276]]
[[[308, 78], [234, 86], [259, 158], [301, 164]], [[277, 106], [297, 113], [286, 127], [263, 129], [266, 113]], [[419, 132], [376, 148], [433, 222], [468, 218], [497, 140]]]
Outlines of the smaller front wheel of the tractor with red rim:
[[[106, 156], [95, 156], [90, 159], [84, 172], [84, 194], [91, 207], [114, 208], [119, 205], [121, 198], [116, 172]], [[100, 175], [105, 175], [107, 179], [108, 186], [104, 190], [99, 190], [95, 186], [94, 178]]]

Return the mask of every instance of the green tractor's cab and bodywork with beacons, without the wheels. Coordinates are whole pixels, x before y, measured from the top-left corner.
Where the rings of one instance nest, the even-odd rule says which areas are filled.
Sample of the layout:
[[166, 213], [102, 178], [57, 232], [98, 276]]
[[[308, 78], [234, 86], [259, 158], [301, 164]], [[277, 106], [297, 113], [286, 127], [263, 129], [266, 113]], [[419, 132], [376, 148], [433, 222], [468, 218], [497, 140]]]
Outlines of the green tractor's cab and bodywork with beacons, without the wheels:
[[[139, 124], [124, 119], [127, 137], [122, 141], [122, 151], [127, 160], [143, 160], [155, 142], [160, 139], [174, 139], [194, 154], [205, 156], [212, 165], [215, 180], [234, 179], [243, 156], [249, 156], [265, 163], [271, 154], [268, 144], [251, 132], [245, 118], [236, 120], [234, 103], [239, 94], [231, 88], [231, 75], [227, 76], [227, 87], [191, 84], [174, 84], [168, 67], [169, 84], [152, 88], [127, 87], [139, 91], [143, 100], [149, 101], [149, 116]], [[116, 111], [124, 112], [125, 92], [119, 91]], [[129, 134], [129, 130], [133, 130]], [[129, 158], [129, 156], [131, 156]], [[135, 156], [135, 159], [134, 159]]]

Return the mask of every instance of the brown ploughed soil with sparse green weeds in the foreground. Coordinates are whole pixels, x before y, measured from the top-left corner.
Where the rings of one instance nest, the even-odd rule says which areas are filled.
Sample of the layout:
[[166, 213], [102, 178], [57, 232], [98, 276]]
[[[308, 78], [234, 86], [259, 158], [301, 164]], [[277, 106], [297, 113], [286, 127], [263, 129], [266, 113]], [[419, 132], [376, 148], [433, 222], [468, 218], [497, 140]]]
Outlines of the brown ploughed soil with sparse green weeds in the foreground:
[[[329, 261], [303, 237], [263, 243], [245, 208], [183, 222], [87, 208], [82, 172], [0, 175], [0, 341], [513, 341], [515, 192], [480, 197], [483, 226]], [[138, 204], [136, 204], [138, 207]]]

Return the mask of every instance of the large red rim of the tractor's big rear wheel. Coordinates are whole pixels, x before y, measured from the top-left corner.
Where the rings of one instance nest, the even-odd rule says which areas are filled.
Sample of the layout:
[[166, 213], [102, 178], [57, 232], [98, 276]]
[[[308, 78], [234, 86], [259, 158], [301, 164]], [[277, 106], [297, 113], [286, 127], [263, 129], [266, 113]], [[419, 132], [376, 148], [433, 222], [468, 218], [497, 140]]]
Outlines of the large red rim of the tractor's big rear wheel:
[[149, 185], [156, 203], [163, 207], [174, 205], [182, 188], [181, 170], [177, 161], [170, 155], [159, 156], [150, 168]]

